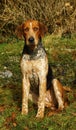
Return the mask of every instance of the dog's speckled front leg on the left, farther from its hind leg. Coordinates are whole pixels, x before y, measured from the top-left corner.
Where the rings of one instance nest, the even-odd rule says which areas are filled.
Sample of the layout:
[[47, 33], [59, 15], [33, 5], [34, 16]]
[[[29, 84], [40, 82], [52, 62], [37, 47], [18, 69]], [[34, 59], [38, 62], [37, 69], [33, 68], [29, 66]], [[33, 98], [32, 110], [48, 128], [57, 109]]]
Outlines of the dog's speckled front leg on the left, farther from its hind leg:
[[29, 79], [24, 75], [22, 79], [22, 114], [28, 114], [28, 97], [30, 83]]

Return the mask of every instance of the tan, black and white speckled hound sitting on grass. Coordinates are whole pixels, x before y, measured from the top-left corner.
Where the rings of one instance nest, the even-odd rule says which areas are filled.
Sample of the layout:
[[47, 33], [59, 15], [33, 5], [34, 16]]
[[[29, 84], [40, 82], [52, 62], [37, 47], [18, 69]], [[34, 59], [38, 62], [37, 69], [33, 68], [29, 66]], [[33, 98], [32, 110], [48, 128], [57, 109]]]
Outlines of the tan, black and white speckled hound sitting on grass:
[[64, 87], [53, 78], [48, 64], [42, 37], [47, 32], [44, 24], [28, 20], [20, 25], [16, 33], [24, 37], [25, 45], [21, 58], [22, 71], [22, 114], [28, 114], [28, 99], [38, 103], [36, 117], [43, 118], [45, 107], [63, 110], [65, 107]]

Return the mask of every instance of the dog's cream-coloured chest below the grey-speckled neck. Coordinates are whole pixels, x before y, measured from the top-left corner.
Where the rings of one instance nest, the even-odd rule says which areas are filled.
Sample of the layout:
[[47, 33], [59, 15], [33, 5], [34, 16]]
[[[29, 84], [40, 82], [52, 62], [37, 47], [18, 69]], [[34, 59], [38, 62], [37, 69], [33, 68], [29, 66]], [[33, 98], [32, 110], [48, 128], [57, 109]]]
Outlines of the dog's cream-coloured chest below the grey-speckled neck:
[[47, 57], [39, 58], [37, 60], [26, 60], [25, 56], [21, 61], [22, 74], [29, 79], [30, 87], [33, 92], [38, 94], [40, 80], [46, 76], [48, 68]]

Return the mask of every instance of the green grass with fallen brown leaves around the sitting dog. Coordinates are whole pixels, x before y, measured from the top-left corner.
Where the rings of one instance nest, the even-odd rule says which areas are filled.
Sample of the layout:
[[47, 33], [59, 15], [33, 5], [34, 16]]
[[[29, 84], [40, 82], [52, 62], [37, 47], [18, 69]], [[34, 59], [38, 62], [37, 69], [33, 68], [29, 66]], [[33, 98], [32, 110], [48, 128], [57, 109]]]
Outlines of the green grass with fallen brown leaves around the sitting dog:
[[75, 130], [76, 129], [76, 39], [46, 36], [43, 39], [55, 77], [71, 86], [70, 105], [61, 113], [36, 119], [37, 106], [29, 102], [29, 114], [21, 115], [20, 56], [23, 41], [0, 45], [0, 72], [10, 70], [12, 77], [0, 76], [0, 130]]

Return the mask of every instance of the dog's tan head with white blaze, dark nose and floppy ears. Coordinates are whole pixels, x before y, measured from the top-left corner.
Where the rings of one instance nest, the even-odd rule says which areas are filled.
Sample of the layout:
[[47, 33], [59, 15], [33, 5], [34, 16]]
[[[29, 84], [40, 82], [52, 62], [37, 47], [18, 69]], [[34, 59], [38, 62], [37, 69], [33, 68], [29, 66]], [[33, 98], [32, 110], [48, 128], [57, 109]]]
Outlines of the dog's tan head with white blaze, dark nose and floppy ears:
[[46, 26], [36, 20], [28, 20], [16, 29], [17, 36], [23, 36], [26, 44], [31, 47], [37, 46], [46, 32]]

